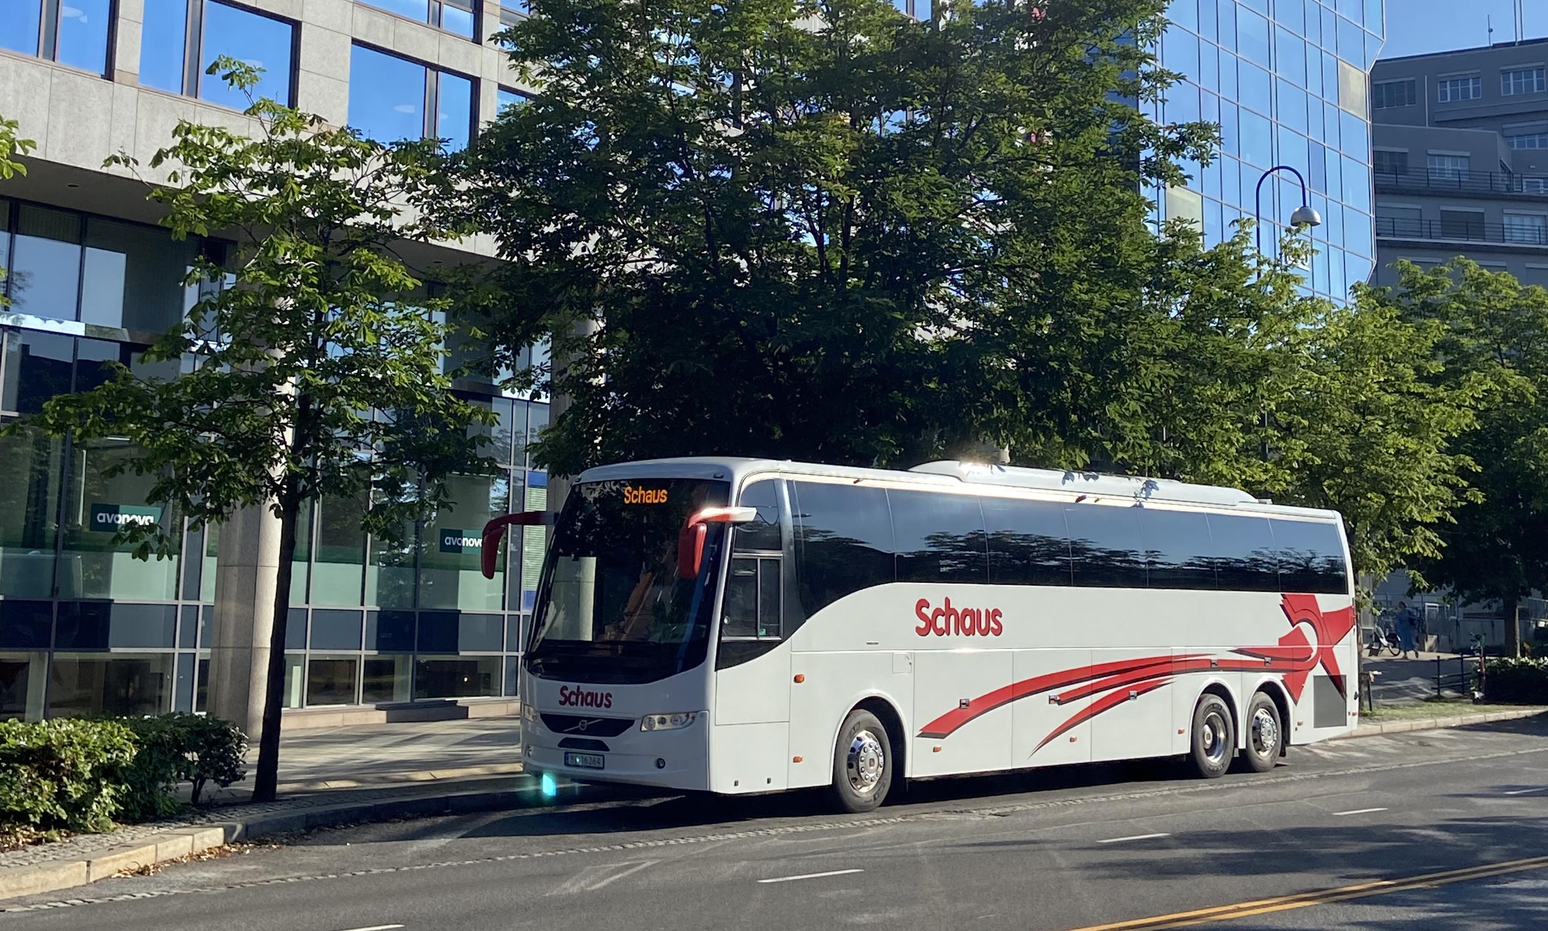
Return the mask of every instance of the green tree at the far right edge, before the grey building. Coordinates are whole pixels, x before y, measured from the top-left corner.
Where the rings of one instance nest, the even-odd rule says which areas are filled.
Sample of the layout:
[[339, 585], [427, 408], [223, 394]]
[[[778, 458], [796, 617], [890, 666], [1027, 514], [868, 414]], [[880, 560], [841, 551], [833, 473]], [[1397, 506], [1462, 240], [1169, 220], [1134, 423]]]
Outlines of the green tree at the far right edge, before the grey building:
[[1399, 265], [1381, 301], [1441, 332], [1437, 384], [1488, 392], [1457, 448], [1478, 463], [1477, 496], [1441, 528], [1444, 548], [1416, 564], [1424, 582], [1464, 601], [1500, 603], [1506, 652], [1520, 652], [1522, 598], [1548, 589], [1548, 291], [1471, 259]]

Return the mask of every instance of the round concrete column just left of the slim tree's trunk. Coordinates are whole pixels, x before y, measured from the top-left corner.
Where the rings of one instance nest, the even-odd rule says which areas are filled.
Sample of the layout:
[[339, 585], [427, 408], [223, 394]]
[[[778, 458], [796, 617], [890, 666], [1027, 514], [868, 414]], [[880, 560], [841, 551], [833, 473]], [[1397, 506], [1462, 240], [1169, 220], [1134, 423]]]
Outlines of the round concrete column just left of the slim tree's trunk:
[[245, 508], [220, 525], [207, 708], [254, 745], [263, 725], [279, 555], [280, 522], [266, 507]]

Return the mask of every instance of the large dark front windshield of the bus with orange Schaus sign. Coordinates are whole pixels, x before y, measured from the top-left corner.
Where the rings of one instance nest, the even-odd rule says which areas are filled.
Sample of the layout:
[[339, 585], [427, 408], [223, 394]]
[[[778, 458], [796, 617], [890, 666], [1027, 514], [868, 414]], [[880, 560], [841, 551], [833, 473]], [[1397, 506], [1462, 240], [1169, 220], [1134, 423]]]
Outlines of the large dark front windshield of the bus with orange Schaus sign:
[[680, 579], [678, 533], [724, 505], [728, 482], [625, 479], [577, 485], [554, 525], [526, 668], [579, 682], [653, 682], [704, 661], [718, 553], [711, 524], [703, 570]]

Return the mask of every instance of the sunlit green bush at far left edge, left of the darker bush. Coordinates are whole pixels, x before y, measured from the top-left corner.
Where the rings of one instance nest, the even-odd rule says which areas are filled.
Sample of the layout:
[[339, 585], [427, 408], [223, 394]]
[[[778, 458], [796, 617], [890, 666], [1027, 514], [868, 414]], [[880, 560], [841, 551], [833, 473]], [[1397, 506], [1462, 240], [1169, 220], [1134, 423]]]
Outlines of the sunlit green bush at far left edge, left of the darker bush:
[[0, 823], [108, 830], [135, 759], [135, 734], [115, 720], [0, 722]]

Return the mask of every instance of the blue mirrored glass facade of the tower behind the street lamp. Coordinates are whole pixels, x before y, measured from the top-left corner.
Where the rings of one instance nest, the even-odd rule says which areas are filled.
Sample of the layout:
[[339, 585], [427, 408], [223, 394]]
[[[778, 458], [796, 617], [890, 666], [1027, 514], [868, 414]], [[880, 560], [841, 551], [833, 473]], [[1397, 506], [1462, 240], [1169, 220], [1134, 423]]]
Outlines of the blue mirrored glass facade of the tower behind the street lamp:
[[1257, 217], [1277, 251], [1307, 178], [1322, 226], [1305, 287], [1342, 301], [1376, 262], [1368, 74], [1384, 40], [1382, 0], [1175, 0], [1159, 59], [1184, 76], [1152, 116], [1220, 124], [1220, 156], [1186, 164], [1183, 189], [1153, 192], [1158, 214], [1195, 222], [1206, 245]]

